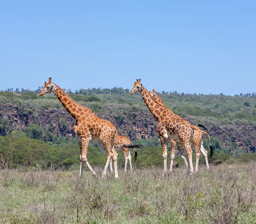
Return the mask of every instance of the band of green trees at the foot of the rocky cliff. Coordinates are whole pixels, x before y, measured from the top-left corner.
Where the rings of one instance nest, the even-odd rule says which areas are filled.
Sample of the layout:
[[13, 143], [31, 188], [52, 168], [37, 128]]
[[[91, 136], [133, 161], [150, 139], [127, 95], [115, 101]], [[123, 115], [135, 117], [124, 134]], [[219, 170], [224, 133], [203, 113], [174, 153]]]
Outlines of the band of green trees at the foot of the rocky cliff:
[[[76, 139], [60, 138], [55, 139], [55, 144], [46, 143], [41, 139], [32, 139], [30, 135], [31, 130], [26, 133], [21, 131], [13, 131], [8, 136], [0, 136], [0, 169], [19, 168], [19, 167], [36, 167], [40, 169], [68, 169], [73, 165], [79, 165], [79, 146]], [[38, 136], [37, 136], [38, 137]], [[163, 152], [157, 139], [145, 141], [137, 139], [139, 143], [144, 144], [143, 149], [137, 149], [137, 161], [133, 162], [133, 167], [150, 167], [150, 166], [163, 166]], [[215, 147], [218, 140], [213, 140]], [[99, 144], [99, 143], [97, 143]], [[223, 163], [235, 164], [238, 162], [249, 162], [256, 160], [256, 153], [242, 154], [239, 157], [231, 156], [230, 153], [218, 153], [209, 159], [213, 162], [215, 159], [221, 159]], [[125, 164], [122, 151], [118, 152], [118, 167], [123, 168]], [[131, 154], [134, 151], [131, 150]], [[169, 154], [169, 153], [168, 153]], [[201, 156], [200, 163], [205, 163]], [[87, 154], [88, 161], [93, 166], [104, 167], [107, 155], [105, 150], [99, 145], [93, 145], [92, 142], [88, 147]], [[175, 161], [183, 165], [183, 160], [180, 155], [175, 156]], [[193, 155], [193, 161], [195, 156]], [[128, 167], [129, 169], [129, 167]]]

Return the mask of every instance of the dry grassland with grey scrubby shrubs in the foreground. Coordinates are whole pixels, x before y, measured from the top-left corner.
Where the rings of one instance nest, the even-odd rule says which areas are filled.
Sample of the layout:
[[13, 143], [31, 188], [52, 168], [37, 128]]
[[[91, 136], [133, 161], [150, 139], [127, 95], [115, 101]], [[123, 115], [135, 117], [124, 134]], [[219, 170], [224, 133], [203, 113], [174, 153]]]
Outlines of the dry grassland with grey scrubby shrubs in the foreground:
[[[105, 179], [70, 170], [0, 170], [0, 223], [256, 223], [256, 162]], [[96, 167], [100, 176], [103, 167]]]

